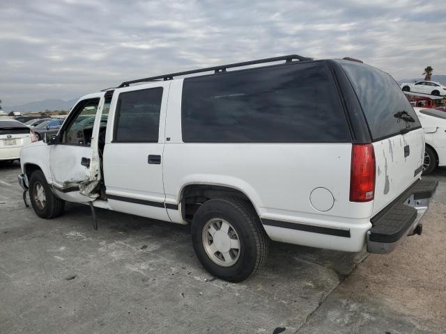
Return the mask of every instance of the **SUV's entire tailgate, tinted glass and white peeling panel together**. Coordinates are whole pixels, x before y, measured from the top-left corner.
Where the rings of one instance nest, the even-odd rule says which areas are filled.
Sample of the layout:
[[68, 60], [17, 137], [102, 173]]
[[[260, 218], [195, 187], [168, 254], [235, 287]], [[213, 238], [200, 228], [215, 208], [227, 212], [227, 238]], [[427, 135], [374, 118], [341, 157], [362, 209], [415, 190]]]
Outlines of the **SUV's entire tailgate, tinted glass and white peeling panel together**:
[[424, 132], [413, 107], [390, 74], [362, 63], [338, 63], [355, 90], [374, 145], [374, 216], [420, 178]]

